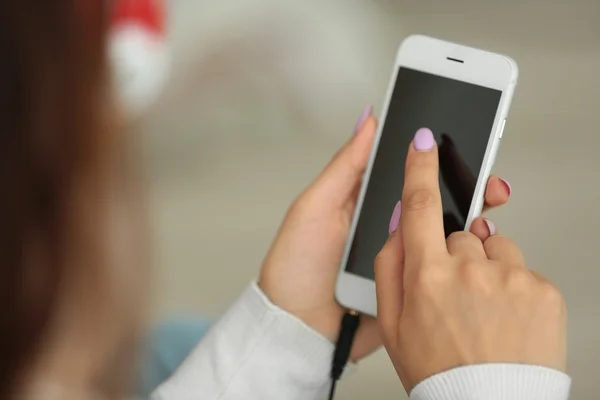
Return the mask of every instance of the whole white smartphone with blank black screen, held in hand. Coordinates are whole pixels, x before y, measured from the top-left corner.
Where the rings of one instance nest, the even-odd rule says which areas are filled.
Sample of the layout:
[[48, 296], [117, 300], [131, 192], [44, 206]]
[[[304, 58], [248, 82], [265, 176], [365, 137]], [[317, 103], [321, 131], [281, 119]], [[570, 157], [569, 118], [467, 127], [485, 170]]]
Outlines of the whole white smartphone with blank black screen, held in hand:
[[340, 304], [376, 315], [373, 263], [402, 197], [405, 157], [419, 128], [439, 146], [446, 235], [468, 230], [502, 139], [518, 68], [509, 57], [415, 35], [398, 49], [336, 284]]

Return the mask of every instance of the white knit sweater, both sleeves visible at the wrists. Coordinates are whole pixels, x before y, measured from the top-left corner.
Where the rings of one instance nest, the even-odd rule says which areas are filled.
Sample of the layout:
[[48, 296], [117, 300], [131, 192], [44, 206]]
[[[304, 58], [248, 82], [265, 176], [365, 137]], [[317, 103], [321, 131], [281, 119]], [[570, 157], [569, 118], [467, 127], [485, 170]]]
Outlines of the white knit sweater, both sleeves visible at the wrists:
[[[321, 399], [333, 344], [269, 302], [256, 284], [214, 326], [153, 400]], [[421, 382], [413, 400], [567, 400], [571, 379], [510, 364], [456, 368]]]

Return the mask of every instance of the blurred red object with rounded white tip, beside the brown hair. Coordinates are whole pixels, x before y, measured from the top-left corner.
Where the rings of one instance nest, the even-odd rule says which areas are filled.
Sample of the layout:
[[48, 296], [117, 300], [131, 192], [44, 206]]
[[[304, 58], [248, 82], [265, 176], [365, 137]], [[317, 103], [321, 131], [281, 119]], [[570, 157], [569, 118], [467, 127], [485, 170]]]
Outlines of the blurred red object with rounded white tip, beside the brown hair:
[[134, 119], [160, 96], [170, 68], [163, 0], [113, 0], [109, 58], [117, 101]]

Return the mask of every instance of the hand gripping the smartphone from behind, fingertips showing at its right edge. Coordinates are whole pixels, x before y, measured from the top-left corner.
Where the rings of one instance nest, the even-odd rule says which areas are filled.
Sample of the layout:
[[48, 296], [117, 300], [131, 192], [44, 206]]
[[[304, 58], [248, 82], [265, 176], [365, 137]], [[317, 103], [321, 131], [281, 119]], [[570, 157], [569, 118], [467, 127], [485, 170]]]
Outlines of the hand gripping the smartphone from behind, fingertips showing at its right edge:
[[[376, 129], [375, 118], [365, 112], [354, 137], [290, 207], [260, 274], [259, 286], [274, 304], [332, 342], [344, 314], [335, 282]], [[502, 205], [509, 195], [505, 181], [489, 179], [487, 206]], [[481, 218], [471, 228], [485, 231], [478, 236], [488, 236], [487, 229]], [[350, 359], [358, 361], [379, 346], [375, 319], [364, 317]]]

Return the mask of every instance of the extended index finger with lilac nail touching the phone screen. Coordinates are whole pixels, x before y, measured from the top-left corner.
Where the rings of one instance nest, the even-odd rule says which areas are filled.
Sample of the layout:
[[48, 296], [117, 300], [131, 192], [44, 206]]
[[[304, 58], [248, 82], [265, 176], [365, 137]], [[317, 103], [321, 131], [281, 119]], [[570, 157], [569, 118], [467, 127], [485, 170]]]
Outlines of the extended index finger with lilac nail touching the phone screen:
[[415, 134], [404, 172], [402, 232], [406, 258], [422, 259], [446, 253], [438, 149], [433, 132], [421, 128]]

